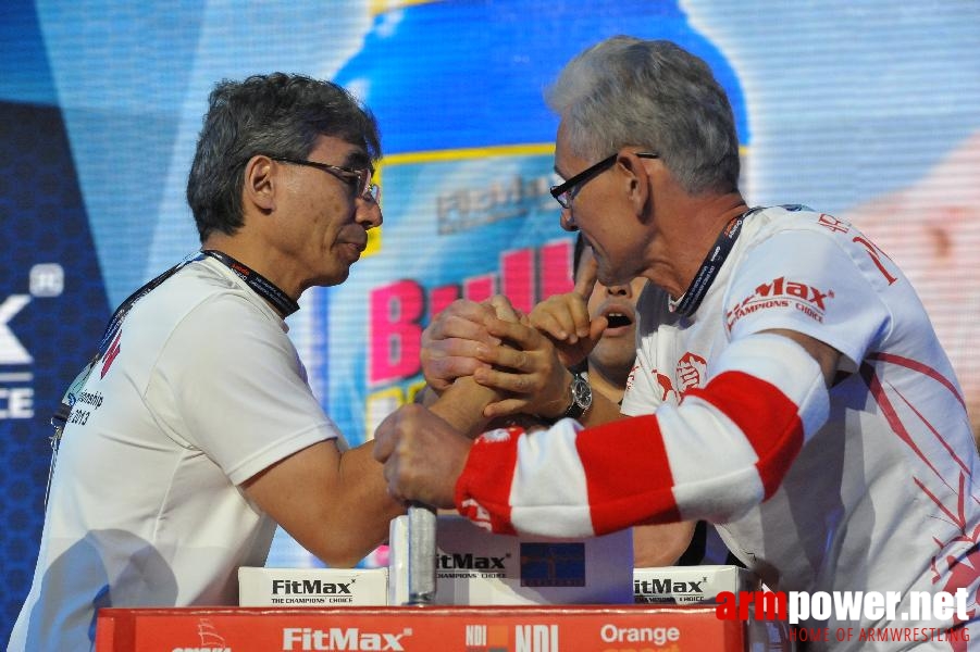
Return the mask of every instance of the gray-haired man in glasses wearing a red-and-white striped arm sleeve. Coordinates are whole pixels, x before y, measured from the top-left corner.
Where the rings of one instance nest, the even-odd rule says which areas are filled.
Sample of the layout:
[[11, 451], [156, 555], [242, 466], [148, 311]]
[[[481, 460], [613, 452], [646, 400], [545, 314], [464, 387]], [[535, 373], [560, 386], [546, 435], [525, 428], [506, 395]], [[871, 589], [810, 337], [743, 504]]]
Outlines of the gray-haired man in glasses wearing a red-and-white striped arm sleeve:
[[[902, 272], [831, 215], [749, 209], [729, 102], [671, 42], [604, 41], [548, 99], [561, 118], [561, 226], [591, 244], [599, 283], [650, 281], [622, 402], [631, 418], [566, 368], [607, 325], [588, 317], [587, 284], [538, 305], [530, 325], [458, 302], [423, 338], [430, 386], [469, 375], [505, 392], [487, 416], [559, 421], [468, 446], [423, 408], [402, 409], [376, 432], [390, 490], [499, 532], [710, 521], [773, 590], [893, 601], [820, 627], [918, 632], [835, 650], [965, 649], [980, 464], [953, 368]], [[967, 604], [952, 617], [911, 607], [938, 593]]]

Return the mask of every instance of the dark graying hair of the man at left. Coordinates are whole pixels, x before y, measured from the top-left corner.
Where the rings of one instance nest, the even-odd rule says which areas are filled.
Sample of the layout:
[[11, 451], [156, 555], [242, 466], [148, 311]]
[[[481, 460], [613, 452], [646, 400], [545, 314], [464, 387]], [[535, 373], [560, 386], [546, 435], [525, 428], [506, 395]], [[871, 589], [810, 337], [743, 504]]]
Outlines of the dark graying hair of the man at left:
[[257, 154], [306, 159], [320, 136], [333, 136], [381, 158], [377, 124], [343, 87], [303, 75], [273, 73], [223, 80], [209, 108], [187, 178], [187, 203], [203, 241], [243, 225], [245, 164]]

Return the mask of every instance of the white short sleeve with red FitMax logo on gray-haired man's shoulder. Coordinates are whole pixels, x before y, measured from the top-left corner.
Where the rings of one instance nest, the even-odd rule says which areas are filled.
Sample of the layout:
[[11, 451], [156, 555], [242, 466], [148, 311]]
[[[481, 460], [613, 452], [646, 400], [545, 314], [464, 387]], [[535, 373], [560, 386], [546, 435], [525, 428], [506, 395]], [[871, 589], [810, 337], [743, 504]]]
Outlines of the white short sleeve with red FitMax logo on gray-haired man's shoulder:
[[827, 213], [777, 206], [754, 217], [722, 300], [725, 331], [733, 340], [798, 333], [856, 367], [889, 337], [896, 302], [909, 298], [891, 287], [901, 273], [860, 231]]

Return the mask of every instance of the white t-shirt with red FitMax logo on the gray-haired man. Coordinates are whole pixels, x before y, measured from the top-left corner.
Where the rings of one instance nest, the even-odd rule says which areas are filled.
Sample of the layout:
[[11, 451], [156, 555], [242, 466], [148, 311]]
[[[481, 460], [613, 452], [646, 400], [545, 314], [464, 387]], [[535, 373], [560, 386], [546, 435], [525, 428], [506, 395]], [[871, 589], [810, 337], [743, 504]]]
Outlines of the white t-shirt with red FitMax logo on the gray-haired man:
[[[648, 286], [623, 413], [677, 404], [712, 376], [732, 340], [753, 333], [785, 328], [830, 344], [848, 375], [830, 391], [829, 421], [774, 494], [719, 532], [773, 589], [965, 587], [973, 605], [980, 492], [970, 478], [980, 466], [963, 392], [914, 289], [829, 215], [771, 208], [743, 229], [693, 317], [670, 313], [666, 293]], [[951, 567], [957, 559], [966, 563]]]

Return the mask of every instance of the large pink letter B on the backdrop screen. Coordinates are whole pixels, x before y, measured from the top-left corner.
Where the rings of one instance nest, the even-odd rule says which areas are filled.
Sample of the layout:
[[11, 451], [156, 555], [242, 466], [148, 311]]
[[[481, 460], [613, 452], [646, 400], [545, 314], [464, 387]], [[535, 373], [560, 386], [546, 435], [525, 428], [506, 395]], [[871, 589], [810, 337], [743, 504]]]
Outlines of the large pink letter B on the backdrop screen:
[[423, 308], [422, 286], [413, 280], [398, 280], [371, 292], [369, 383], [377, 385], [419, 373]]

